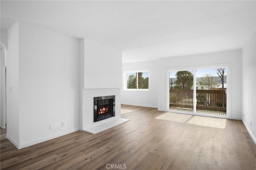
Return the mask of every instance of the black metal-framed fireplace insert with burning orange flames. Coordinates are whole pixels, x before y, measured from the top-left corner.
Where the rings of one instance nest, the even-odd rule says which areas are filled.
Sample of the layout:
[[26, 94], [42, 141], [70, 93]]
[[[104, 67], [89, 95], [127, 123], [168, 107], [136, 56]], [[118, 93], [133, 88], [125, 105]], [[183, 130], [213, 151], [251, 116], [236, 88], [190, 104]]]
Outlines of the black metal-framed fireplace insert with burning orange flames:
[[115, 116], [115, 96], [94, 97], [94, 122]]

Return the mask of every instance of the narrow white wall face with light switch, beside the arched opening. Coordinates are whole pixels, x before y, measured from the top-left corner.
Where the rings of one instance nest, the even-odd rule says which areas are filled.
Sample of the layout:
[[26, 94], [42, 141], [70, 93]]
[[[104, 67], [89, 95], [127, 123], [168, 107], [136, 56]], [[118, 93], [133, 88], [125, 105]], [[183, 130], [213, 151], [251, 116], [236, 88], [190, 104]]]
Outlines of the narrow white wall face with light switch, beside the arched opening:
[[[7, 51], [7, 135], [16, 147], [20, 143], [20, 111], [19, 111], [19, 24], [8, 29]], [[10, 91], [12, 88], [12, 91]]]

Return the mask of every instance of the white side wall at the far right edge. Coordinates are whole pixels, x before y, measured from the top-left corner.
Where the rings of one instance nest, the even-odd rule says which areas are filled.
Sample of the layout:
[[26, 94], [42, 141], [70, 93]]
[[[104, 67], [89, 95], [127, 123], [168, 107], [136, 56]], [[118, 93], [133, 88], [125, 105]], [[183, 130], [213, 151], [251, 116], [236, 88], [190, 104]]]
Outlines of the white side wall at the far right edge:
[[242, 49], [242, 121], [256, 143], [256, 31]]

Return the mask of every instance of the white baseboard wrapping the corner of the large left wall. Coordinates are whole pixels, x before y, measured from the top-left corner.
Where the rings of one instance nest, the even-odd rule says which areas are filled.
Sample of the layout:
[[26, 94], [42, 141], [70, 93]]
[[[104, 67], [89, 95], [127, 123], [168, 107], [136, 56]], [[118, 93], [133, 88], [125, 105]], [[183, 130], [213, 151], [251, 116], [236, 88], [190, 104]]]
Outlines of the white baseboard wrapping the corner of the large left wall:
[[34, 144], [38, 144], [38, 143], [41, 143], [41, 142], [45, 142], [46, 140], [50, 140], [50, 139], [53, 139], [53, 138], [57, 138], [57, 137], [60, 137], [60, 136], [63, 136], [65, 134], [70, 134], [70, 133], [73, 133], [73, 132], [76, 132], [78, 130], [81, 130], [81, 128], [73, 128], [71, 130], [66, 130], [64, 132], [60, 132], [60, 133], [57, 133], [57, 134], [52, 134], [50, 136], [46, 136], [44, 138], [40, 138], [40, 139], [37, 139], [37, 140], [33, 140], [31, 142], [26, 142], [26, 143], [23, 143], [23, 144], [18, 144], [11, 136], [9, 136], [8, 134], [6, 134], [6, 138], [8, 140], [10, 140], [10, 142], [12, 142], [14, 144], [14, 146], [16, 146], [16, 148], [18, 149], [22, 149], [22, 148], [26, 148], [28, 146], [32, 146]]

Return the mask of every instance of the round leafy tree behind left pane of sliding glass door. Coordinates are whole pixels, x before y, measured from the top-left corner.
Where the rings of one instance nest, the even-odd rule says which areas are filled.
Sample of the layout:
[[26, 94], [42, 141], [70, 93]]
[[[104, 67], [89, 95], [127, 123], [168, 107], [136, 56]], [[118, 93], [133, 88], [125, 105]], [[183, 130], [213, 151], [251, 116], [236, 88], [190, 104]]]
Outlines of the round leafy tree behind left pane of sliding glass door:
[[177, 80], [174, 89], [191, 89], [193, 85], [193, 74], [189, 71], [177, 71]]

